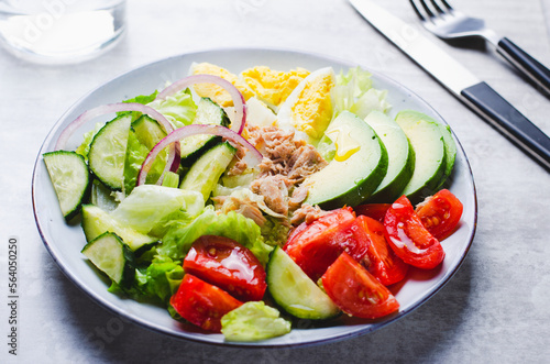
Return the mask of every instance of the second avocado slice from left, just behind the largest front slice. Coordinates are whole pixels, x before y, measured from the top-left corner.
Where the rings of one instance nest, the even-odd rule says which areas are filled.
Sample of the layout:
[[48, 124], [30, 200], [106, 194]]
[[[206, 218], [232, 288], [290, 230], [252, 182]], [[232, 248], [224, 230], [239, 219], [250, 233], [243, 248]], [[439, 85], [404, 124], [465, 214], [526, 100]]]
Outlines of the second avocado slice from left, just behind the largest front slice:
[[387, 173], [369, 202], [393, 202], [399, 197], [415, 170], [415, 152], [402, 128], [388, 115], [377, 110], [365, 122], [380, 136], [387, 151]]

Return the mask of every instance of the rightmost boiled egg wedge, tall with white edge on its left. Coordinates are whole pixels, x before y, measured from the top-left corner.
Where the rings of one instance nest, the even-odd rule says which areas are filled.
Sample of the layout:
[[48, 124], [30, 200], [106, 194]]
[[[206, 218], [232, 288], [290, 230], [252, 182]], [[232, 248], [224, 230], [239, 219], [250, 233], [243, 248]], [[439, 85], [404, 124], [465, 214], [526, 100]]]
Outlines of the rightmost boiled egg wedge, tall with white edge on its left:
[[334, 79], [334, 71], [327, 67], [301, 80], [280, 106], [277, 125], [296, 130], [308, 142], [318, 141], [332, 120], [330, 91]]

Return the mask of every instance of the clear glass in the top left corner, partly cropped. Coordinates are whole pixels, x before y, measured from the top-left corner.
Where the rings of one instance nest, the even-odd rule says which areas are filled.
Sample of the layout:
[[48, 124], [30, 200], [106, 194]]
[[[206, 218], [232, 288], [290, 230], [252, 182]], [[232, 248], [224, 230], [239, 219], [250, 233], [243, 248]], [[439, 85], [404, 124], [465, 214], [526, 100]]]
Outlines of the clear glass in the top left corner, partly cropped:
[[0, 0], [0, 41], [44, 64], [90, 59], [124, 32], [125, 0]]

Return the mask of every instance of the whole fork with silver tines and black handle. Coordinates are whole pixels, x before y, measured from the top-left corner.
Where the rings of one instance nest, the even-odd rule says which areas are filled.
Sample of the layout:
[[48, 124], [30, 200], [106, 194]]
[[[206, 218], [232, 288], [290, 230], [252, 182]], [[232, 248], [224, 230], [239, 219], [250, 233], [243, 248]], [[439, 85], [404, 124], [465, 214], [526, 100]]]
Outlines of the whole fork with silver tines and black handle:
[[[535, 86], [550, 96], [550, 70], [507, 37], [499, 37], [485, 26], [482, 19], [458, 11], [447, 0], [409, 0], [422, 25], [442, 40], [482, 37], [492, 43], [498, 54], [514, 65]], [[418, 7], [416, 2], [420, 2]]]

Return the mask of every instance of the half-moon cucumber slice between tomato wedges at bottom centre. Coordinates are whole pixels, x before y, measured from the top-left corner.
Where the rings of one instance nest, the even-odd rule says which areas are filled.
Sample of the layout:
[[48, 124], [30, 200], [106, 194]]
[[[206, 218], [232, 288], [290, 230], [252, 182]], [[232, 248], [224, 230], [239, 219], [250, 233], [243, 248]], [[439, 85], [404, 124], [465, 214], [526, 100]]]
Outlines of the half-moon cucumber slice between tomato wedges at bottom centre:
[[280, 246], [266, 267], [267, 289], [288, 313], [310, 320], [326, 320], [340, 313], [338, 306], [315, 284]]

